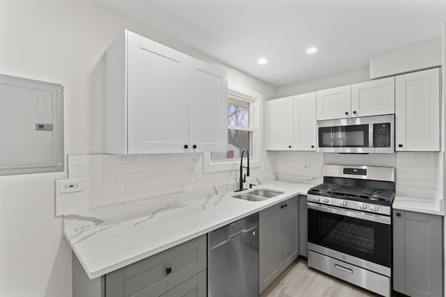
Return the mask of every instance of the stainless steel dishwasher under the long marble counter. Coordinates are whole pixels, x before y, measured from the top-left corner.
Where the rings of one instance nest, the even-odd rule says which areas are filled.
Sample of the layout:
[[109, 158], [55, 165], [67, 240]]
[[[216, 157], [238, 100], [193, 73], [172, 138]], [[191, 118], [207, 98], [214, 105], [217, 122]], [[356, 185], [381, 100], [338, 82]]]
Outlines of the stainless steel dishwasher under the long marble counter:
[[208, 233], [208, 297], [259, 296], [259, 214]]

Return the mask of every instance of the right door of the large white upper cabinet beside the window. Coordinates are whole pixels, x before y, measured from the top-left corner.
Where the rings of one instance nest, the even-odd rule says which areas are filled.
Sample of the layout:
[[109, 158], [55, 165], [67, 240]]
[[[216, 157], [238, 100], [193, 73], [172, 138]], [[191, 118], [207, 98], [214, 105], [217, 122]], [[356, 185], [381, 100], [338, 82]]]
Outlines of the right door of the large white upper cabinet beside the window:
[[226, 152], [228, 150], [226, 72], [195, 59], [192, 60], [190, 71], [189, 151]]

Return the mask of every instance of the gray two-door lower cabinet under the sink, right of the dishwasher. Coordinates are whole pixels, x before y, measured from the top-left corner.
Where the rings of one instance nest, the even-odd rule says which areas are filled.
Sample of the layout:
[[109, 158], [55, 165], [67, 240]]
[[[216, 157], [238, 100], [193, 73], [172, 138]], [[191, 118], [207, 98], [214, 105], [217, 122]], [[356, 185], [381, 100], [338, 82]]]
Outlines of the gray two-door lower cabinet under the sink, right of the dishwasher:
[[259, 292], [264, 291], [298, 254], [296, 196], [259, 213]]

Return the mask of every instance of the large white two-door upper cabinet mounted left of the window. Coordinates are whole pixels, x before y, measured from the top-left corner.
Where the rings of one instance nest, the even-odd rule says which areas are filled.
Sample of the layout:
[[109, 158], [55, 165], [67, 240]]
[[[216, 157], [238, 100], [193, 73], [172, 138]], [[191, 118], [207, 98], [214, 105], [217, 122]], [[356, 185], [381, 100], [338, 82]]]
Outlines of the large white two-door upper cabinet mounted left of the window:
[[106, 64], [107, 153], [227, 149], [224, 72], [127, 30]]

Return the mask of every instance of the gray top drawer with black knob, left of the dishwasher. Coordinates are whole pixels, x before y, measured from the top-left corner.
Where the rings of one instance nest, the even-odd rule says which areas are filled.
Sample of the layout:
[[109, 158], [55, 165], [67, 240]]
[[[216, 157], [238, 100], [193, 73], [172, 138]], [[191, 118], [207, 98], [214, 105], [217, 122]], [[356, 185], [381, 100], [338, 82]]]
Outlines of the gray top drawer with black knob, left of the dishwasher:
[[161, 296], [206, 269], [206, 235], [105, 277], [107, 297]]

